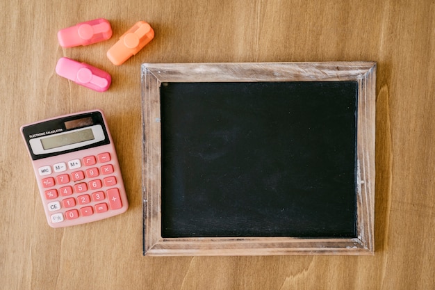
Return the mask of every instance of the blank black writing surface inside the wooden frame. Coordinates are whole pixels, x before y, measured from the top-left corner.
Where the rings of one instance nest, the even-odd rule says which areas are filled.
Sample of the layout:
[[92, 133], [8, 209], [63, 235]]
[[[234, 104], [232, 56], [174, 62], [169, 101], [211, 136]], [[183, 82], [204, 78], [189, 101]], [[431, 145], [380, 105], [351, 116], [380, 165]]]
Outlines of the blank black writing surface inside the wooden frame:
[[163, 83], [163, 238], [355, 237], [357, 88]]

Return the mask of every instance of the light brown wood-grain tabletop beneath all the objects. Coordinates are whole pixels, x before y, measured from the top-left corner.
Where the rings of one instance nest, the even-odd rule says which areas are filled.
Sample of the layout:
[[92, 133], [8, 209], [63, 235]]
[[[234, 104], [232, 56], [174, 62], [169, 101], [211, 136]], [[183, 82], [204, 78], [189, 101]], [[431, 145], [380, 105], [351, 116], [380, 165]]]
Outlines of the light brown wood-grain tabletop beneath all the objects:
[[[1, 1], [0, 289], [435, 289], [435, 1]], [[63, 49], [59, 29], [104, 17], [113, 38]], [[139, 20], [156, 37], [106, 58]], [[109, 72], [99, 93], [54, 71]], [[377, 61], [375, 256], [143, 257], [140, 64]], [[130, 208], [47, 225], [23, 124], [100, 108]]]

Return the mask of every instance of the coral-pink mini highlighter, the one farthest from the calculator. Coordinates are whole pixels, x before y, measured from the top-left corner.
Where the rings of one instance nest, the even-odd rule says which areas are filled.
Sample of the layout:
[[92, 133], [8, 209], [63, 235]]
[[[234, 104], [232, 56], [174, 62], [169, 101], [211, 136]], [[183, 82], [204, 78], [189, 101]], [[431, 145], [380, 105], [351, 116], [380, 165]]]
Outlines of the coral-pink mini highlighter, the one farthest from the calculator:
[[108, 40], [111, 37], [112, 27], [104, 18], [81, 22], [58, 31], [58, 40], [61, 47], [92, 45], [92, 43]]

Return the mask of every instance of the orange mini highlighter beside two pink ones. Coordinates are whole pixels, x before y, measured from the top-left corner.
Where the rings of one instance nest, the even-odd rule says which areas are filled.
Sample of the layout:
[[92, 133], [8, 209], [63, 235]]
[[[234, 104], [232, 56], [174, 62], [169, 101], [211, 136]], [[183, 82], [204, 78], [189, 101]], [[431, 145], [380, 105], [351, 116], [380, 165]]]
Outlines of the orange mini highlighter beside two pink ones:
[[140, 21], [124, 33], [113, 47], [107, 51], [108, 59], [114, 65], [122, 65], [131, 56], [137, 54], [154, 38], [154, 30], [145, 22]]

